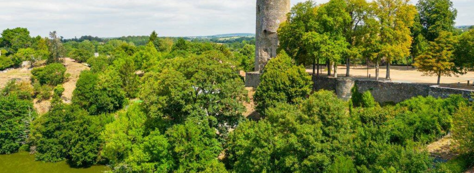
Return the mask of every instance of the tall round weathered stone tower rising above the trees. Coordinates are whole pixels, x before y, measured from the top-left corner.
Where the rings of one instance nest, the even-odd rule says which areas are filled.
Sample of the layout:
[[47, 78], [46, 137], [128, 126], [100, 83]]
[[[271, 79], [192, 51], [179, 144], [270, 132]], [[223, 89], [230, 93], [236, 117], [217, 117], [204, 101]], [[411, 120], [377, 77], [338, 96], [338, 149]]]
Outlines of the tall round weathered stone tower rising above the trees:
[[276, 31], [290, 12], [290, 0], [257, 0], [256, 8], [255, 71], [261, 71], [268, 60], [276, 57]]

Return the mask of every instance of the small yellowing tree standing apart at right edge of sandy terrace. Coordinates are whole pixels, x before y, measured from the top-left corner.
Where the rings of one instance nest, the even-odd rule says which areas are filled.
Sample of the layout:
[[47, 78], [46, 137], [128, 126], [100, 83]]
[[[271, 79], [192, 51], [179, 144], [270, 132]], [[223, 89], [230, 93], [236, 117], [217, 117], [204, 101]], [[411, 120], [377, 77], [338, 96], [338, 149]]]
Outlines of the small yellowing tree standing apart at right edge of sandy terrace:
[[456, 74], [453, 70], [455, 66], [453, 52], [456, 43], [457, 40], [451, 32], [441, 32], [435, 41], [429, 42], [428, 50], [418, 56], [413, 65], [426, 76], [438, 76], [439, 85], [441, 76], [450, 77]]

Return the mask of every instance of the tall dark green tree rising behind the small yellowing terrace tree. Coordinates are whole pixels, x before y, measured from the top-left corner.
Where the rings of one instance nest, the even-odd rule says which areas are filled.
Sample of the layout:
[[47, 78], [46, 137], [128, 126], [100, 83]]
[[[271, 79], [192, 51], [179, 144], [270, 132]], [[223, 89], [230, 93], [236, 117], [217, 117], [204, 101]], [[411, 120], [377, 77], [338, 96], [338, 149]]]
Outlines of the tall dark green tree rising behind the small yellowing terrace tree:
[[419, 0], [416, 7], [422, 26], [421, 35], [428, 41], [435, 41], [441, 32], [454, 31], [457, 10], [451, 0]]

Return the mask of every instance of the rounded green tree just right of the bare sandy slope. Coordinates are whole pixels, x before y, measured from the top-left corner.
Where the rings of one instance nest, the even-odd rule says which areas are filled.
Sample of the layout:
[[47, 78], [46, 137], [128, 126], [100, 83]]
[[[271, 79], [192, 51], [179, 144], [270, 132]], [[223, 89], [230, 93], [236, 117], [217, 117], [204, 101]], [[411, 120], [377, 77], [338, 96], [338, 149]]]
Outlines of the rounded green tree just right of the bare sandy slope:
[[73, 91], [72, 102], [91, 115], [98, 115], [122, 108], [127, 100], [119, 74], [111, 68], [99, 74], [82, 71]]

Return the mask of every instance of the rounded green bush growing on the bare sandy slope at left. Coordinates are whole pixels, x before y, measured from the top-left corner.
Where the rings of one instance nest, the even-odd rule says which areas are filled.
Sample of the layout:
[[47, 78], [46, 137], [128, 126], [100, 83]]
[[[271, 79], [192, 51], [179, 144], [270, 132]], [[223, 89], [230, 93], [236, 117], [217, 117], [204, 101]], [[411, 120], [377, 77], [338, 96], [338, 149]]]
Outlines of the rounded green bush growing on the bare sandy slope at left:
[[66, 67], [63, 64], [48, 64], [45, 67], [37, 67], [31, 70], [31, 79], [39, 82], [41, 85], [57, 86], [64, 82], [65, 72]]

